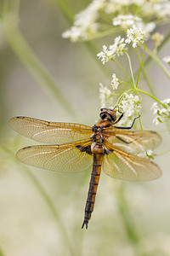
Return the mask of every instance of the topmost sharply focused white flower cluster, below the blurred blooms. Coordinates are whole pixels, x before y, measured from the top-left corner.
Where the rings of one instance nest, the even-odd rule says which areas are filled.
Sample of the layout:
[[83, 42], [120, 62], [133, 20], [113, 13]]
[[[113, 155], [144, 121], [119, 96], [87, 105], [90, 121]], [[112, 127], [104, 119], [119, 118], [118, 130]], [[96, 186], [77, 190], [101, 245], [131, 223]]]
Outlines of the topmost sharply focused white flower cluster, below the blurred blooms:
[[130, 44], [133, 43], [133, 48], [137, 46], [137, 44], [144, 43], [144, 32], [141, 28], [133, 25], [133, 28], [127, 29], [127, 39], [125, 43]]

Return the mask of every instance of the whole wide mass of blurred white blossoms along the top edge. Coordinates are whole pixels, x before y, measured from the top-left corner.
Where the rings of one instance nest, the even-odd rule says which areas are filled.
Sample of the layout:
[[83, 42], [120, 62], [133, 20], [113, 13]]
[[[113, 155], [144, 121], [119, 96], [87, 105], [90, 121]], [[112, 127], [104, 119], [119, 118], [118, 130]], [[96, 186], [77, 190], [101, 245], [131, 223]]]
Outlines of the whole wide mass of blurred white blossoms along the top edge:
[[[137, 11], [138, 16], [134, 15]], [[71, 38], [74, 42], [93, 38], [97, 32], [103, 31], [102, 19], [99, 19], [102, 13], [114, 17], [113, 26], [127, 29], [135, 25], [142, 29], [144, 37], [148, 38], [156, 27], [156, 18], [158, 24], [162, 20], [168, 22], [170, 2], [169, 0], [93, 0], [86, 9], [75, 15], [73, 26], [63, 33], [63, 37]], [[109, 19], [108, 21], [110, 22]]]

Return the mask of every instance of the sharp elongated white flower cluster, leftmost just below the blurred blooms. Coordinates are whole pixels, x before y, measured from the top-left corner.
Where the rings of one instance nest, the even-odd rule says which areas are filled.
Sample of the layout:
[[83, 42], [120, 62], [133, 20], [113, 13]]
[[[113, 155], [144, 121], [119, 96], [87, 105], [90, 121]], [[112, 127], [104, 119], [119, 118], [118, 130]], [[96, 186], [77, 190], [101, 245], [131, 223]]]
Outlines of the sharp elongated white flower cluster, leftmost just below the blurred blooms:
[[113, 60], [116, 55], [120, 56], [123, 54], [123, 52], [126, 50], [126, 44], [124, 43], [124, 40], [125, 39], [121, 38], [121, 36], [116, 37], [114, 44], [111, 44], [109, 46], [109, 49], [107, 48], [107, 46], [103, 45], [103, 50], [100, 51], [97, 55], [99, 59], [101, 58], [103, 64], [105, 64], [105, 62], [107, 61]]

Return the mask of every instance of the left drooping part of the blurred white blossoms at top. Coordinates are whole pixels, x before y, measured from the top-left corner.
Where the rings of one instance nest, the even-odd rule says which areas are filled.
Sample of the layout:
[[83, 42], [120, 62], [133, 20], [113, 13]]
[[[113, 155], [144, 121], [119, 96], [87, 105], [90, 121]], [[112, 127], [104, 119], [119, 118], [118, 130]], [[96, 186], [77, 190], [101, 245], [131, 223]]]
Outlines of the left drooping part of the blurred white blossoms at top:
[[91, 35], [98, 31], [98, 19], [99, 9], [104, 6], [105, 0], [94, 0], [88, 5], [87, 9], [84, 9], [79, 14], [75, 15], [75, 22], [71, 26], [70, 30], [65, 31], [62, 34], [63, 38], [71, 38], [72, 42], [76, 42], [79, 39], [89, 39]]

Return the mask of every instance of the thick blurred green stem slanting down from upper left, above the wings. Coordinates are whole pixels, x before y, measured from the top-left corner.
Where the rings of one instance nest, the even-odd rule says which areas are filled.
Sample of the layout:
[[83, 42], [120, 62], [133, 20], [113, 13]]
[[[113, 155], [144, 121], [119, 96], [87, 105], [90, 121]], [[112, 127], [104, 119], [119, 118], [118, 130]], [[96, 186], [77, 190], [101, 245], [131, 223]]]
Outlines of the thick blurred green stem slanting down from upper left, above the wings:
[[26, 43], [26, 40], [21, 35], [17, 26], [15, 26], [14, 16], [5, 15], [2, 20], [3, 34], [8, 42], [8, 45], [13, 49], [15, 55], [17, 55], [30, 71], [31, 75], [37, 79], [38, 84], [45, 92], [48, 92], [50, 96], [53, 96], [55, 102], [59, 102], [65, 111], [74, 115], [74, 110], [71, 107], [70, 102], [65, 99], [65, 96], [57, 87], [54, 79], [42, 66], [42, 63], [38, 61], [36, 55], [32, 52], [30, 46]]

